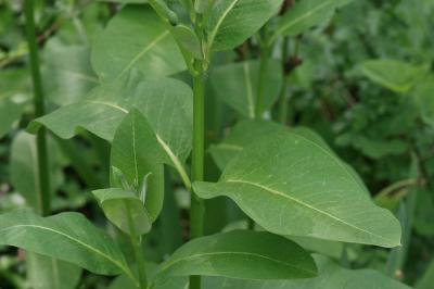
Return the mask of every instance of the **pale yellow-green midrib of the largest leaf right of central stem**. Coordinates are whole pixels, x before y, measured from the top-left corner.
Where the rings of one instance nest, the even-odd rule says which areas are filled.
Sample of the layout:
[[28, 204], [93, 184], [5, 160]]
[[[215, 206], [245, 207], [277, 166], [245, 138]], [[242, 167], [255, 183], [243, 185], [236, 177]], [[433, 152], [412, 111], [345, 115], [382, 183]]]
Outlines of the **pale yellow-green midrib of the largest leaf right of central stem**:
[[243, 184], [243, 185], [250, 185], [250, 186], [254, 186], [254, 187], [260, 188], [260, 189], [266, 190], [266, 191], [268, 191], [268, 192], [270, 192], [272, 194], [280, 196], [280, 197], [282, 197], [282, 198], [284, 198], [286, 200], [293, 201], [293, 202], [295, 202], [295, 203], [297, 203], [299, 205], [303, 205], [303, 206], [305, 206], [305, 208], [307, 208], [307, 209], [309, 209], [311, 211], [315, 211], [315, 212], [317, 212], [319, 214], [322, 214], [322, 215], [324, 215], [327, 217], [330, 217], [330, 218], [332, 218], [332, 219], [334, 219], [334, 221], [336, 221], [339, 223], [342, 223], [342, 224], [344, 224], [344, 225], [346, 225], [348, 227], [352, 227], [352, 228], [354, 228], [356, 230], [359, 230], [359, 231], [366, 233], [368, 235], [374, 236], [376, 238], [380, 238], [382, 240], [385, 240], [385, 241], [387, 241], [387, 243], [391, 242], [390, 239], [384, 238], [383, 236], [380, 236], [380, 235], [374, 234], [372, 231], [369, 231], [369, 230], [366, 230], [363, 228], [360, 228], [360, 227], [358, 227], [358, 226], [356, 226], [354, 224], [347, 223], [344, 219], [341, 219], [341, 218], [339, 218], [339, 217], [336, 217], [336, 216], [334, 216], [334, 215], [332, 215], [332, 214], [330, 214], [330, 213], [328, 213], [326, 211], [322, 211], [322, 210], [320, 210], [318, 208], [315, 208], [315, 206], [312, 206], [312, 205], [310, 205], [308, 203], [305, 203], [302, 200], [293, 198], [293, 197], [291, 197], [291, 196], [289, 196], [289, 194], [286, 194], [286, 193], [284, 193], [282, 191], [275, 190], [275, 189], [271, 189], [269, 187], [266, 187], [266, 186], [264, 186], [261, 184], [257, 184], [257, 183], [253, 183], [253, 181], [248, 181], [248, 180], [243, 180], [243, 179], [227, 179], [227, 180], [224, 180], [221, 183]]

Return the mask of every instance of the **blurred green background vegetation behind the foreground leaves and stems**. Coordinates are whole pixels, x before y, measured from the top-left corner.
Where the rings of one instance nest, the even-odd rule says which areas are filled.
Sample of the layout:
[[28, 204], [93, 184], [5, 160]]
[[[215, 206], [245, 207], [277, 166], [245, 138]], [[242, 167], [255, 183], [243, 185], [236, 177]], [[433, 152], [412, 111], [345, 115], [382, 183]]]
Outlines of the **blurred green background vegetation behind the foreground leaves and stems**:
[[[36, 3], [43, 85], [52, 111], [81, 100], [98, 85], [90, 45], [123, 4]], [[375, 202], [396, 213], [405, 231], [403, 247], [392, 251], [308, 239], [299, 242], [343, 266], [371, 267], [418, 289], [434, 288], [434, 0], [356, 0], [331, 22], [291, 38], [289, 45], [288, 124], [320, 134], [360, 174]], [[275, 56], [280, 53], [276, 49]], [[210, 84], [219, 66], [257, 55], [255, 39], [237, 51], [218, 54]], [[383, 62], [372, 67], [369, 60]], [[379, 74], [385, 76], [379, 79]], [[187, 74], [176, 77], [189, 81]], [[384, 79], [399, 79], [398, 86]], [[209, 85], [207, 89], [209, 144], [242, 118], [215, 88]], [[271, 114], [279, 110], [277, 104]], [[23, 1], [0, 0], [0, 212], [36, 202], [34, 136], [25, 133], [33, 117]], [[80, 211], [108, 227], [90, 196], [92, 188], [107, 184], [108, 143], [82, 131], [74, 141], [50, 136], [49, 144], [53, 211]], [[207, 167], [207, 179], [218, 177], [210, 154]], [[167, 169], [167, 175], [171, 180], [159, 227], [146, 240], [148, 255], [155, 262], [188, 236], [188, 192], [176, 174]], [[243, 219], [230, 201], [207, 202], [207, 234]], [[40, 266], [25, 265], [25, 260], [22, 251], [0, 247], [0, 288], [28, 288], [31, 278], [42, 276]], [[69, 273], [71, 288], [106, 288], [110, 284], [106, 277], [82, 273], [80, 279], [80, 274]]]

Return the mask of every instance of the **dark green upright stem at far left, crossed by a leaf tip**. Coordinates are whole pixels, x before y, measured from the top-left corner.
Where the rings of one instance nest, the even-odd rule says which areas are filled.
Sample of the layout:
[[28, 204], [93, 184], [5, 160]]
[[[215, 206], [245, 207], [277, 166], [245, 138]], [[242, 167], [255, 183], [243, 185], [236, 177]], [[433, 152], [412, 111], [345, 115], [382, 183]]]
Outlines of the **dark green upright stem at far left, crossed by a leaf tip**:
[[[34, 16], [34, 1], [25, 0], [25, 15], [26, 15], [26, 35], [30, 58], [31, 78], [34, 83], [34, 104], [35, 116], [40, 117], [46, 113], [42, 81], [39, 70], [39, 55], [38, 45], [36, 40], [35, 16]], [[50, 174], [48, 165], [48, 151], [47, 151], [47, 133], [44, 128], [39, 129], [36, 136], [36, 147], [38, 155], [39, 168], [39, 193], [40, 193], [40, 214], [50, 214]]]

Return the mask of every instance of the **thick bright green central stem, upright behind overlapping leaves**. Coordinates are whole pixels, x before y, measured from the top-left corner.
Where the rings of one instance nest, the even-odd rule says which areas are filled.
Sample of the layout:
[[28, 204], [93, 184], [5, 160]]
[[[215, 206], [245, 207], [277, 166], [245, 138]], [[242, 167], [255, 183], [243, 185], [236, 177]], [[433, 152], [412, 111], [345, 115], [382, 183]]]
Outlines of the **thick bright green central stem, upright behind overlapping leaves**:
[[[202, 61], [195, 61], [196, 74], [193, 75], [193, 154], [192, 179], [200, 181], [204, 178], [205, 155], [205, 74]], [[203, 236], [204, 202], [194, 192], [191, 193], [190, 237]], [[190, 276], [190, 289], [201, 288], [201, 277]]]

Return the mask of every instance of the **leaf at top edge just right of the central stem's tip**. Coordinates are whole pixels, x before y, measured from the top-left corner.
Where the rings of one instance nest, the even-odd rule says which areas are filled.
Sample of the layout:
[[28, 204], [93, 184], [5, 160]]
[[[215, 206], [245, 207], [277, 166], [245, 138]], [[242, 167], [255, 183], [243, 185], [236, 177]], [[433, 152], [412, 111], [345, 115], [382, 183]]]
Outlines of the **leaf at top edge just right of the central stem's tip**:
[[254, 35], [282, 0], [216, 0], [205, 25], [208, 50], [231, 50]]

